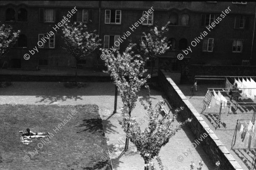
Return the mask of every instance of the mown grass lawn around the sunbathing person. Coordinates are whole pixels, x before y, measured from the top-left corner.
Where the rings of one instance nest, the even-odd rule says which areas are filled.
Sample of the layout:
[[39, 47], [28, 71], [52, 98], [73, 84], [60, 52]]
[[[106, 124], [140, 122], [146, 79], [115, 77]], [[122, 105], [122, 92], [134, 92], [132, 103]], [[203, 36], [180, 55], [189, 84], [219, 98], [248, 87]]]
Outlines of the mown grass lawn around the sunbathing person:
[[[1, 170], [111, 170], [101, 161], [107, 143], [97, 105], [4, 104], [0, 116]], [[22, 144], [27, 127], [50, 138]]]

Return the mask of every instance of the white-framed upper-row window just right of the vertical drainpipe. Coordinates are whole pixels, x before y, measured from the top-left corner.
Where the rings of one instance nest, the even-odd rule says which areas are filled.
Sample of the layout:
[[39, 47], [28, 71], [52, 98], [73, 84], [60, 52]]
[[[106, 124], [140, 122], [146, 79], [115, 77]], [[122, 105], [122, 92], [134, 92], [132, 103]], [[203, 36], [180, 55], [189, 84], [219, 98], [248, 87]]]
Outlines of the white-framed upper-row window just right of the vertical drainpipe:
[[105, 23], [121, 24], [121, 10], [105, 10]]

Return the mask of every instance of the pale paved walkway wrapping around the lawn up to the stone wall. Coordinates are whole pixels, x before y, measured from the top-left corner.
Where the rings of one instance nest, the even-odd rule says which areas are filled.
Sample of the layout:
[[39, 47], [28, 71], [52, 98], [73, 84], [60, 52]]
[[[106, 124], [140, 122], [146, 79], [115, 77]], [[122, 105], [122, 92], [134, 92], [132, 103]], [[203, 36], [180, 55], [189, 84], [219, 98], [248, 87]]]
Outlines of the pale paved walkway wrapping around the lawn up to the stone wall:
[[[122, 107], [122, 101], [118, 96], [118, 112], [112, 115], [114, 101], [113, 83], [88, 83], [88, 85], [87, 88], [67, 89], [63, 83], [58, 82], [12, 82], [12, 86], [0, 88], [0, 104], [97, 104], [103, 119], [108, 144], [119, 143], [118, 140], [125, 136], [118, 123], [118, 119], [121, 119], [119, 109]], [[145, 90], [143, 89], [139, 95], [145, 96]], [[151, 96], [154, 98], [154, 103], [156, 103], [157, 100], [163, 99], [164, 94], [152, 89]], [[137, 107], [132, 112], [132, 116], [136, 116], [141, 121], [141, 128], [144, 129], [147, 122], [144, 118], [145, 112], [143, 111], [143, 107], [138, 102]], [[191, 147], [191, 143], [194, 140], [195, 137], [189, 128], [184, 127], [178, 131], [160, 151], [163, 165], [169, 170], [188, 170], [190, 161], [195, 161], [197, 166], [198, 161], [203, 159], [203, 170], [213, 170], [214, 163], [204, 153], [202, 147], [200, 145], [195, 149]], [[136, 147], [131, 142], [129, 144], [129, 150], [124, 155], [120, 155], [124, 144], [119, 146], [116, 144], [119, 151], [112, 157], [114, 170], [143, 169], [143, 158], [136, 152]], [[183, 161], [178, 161], [178, 156], [183, 156]], [[179, 158], [180, 160], [182, 159], [182, 157]], [[159, 169], [156, 161], [155, 164]]]

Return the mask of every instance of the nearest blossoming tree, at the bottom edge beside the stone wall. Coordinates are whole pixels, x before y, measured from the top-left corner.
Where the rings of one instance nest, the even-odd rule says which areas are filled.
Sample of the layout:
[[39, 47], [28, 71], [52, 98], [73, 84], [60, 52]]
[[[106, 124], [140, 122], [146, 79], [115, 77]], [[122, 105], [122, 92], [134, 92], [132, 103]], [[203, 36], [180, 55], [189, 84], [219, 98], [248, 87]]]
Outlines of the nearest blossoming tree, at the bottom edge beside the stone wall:
[[[148, 85], [146, 85], [148, 88]], [[144, 104], [142, 98], [140, 98], [141, 104], [147, 111], [149, 116], [148, 127], [145, 130], [140, 130], [136, 118], [132, 118], [126, 109], [122, 110], [123, 119], [119, 121], [125, 133], [131, 139], [131, 142], [137, 147], [140, 152], [141, 157], [143, 157], [145, 162], [145, 170], [156, 170], [152, 162], [153, 158], [157, 159], [160, 169], [163, 170], [163, 164], [161, 162], [159, 152], [161, 147], [169, 142], [169, 138], [175, 135], [177, 130], [191, 119], [188, 119], [182, 123], [179, 123], [176, 127], [173, 127], [172, 123], [177, 118], [177, 112], [179, 109], [175, 110], [174, 116], [171, 117], [170, 113], [165, 114], [162, 118], [159, 115], [164, 110], [164, 101], [159, 101], [157, 105], [153, 108], [152, 100], [150, 98], [150, 90], [148, 88], [147, 95], [148, 106]], [[130, 125], [130, 128], [127, 128]]]

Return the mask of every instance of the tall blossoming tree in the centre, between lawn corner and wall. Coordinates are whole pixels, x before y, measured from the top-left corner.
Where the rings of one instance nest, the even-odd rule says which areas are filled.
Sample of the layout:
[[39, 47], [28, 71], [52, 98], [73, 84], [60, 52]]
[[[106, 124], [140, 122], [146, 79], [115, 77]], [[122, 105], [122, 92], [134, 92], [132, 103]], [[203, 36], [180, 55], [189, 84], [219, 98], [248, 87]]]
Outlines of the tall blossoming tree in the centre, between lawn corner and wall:
[[[131, 49], [136, 46], [135, 43], [130, 43], [122, 54], [119, 51], [108, 54], [107, 49], [102, 49], [102, 53], [106, 55], [105, 65], [107, 66], [106, 73], [110, 73], [113, 83], [117, 86], [120, 97], [124, 104], [124, 109], [128, 116], [131, 116], [131, 111], [136, 106], [138, 99], [137, 92], [146, 83], [147, 77], [143, 78], [143, 74], [147, 71], [144, 69], [145, 62], [140, 55], [134, 55]], [[127, 124], [129, 128], [129, 124]], [[126, 138], [125, 150], [128, 149], [129, 139]]]

